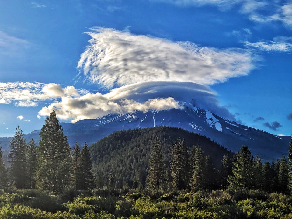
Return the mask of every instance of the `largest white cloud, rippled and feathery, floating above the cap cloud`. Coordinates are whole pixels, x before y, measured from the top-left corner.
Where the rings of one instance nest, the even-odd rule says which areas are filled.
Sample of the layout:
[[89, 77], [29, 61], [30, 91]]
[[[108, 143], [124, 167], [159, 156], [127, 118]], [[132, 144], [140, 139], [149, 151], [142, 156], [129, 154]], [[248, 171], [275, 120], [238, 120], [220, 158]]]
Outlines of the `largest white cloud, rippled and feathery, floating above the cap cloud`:
[[78, 62], [80, 72], [107, 88], [147, 81], [180, 81], [211, 85], [247, 75], [254, 68], [246, 49], [219, 50], [191, 42], [172, 42], [96, 28]]

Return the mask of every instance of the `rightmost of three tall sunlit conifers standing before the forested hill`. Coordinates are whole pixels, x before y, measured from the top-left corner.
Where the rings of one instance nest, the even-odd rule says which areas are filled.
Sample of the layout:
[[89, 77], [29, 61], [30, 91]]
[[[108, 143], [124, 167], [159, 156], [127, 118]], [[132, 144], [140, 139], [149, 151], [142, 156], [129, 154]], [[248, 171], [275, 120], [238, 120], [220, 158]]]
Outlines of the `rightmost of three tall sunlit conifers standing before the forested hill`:
[[194, 154], [193, 161], [191, 161], [193, 169], [191, 187], [193, 190], [199, 190], [206, 186], [206, 157], [199, 146], [193, 146], [192, 151]]

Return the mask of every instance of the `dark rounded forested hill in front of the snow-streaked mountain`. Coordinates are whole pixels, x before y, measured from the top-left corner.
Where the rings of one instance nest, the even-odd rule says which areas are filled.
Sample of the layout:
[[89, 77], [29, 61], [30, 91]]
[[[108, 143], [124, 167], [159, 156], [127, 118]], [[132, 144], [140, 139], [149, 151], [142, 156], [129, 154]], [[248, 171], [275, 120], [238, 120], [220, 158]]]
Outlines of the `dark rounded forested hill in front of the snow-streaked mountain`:
[[135, 179], [145, 183], [151, 145], [158, 136], [162, 144], [166, 166], [169, 167], [172, 144], [178, 138], [184, 139], [190, 151], [193, 145], [200, 145], [205, 155], [210, 155], [215, 166], [221, 165], [225, 154], [231, 154], [205, 136], [173, 127], [153, 127], [117, 131], [90, 146], [94, 174], [100, 177], [112, 173], [114, 183], [128, 183]]

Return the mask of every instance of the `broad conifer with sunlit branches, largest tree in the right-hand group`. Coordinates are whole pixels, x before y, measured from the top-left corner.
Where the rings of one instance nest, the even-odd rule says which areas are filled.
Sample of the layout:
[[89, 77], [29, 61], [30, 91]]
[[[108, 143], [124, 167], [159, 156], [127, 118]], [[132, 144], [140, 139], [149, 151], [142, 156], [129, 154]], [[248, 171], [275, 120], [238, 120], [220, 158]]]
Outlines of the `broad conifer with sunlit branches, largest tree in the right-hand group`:
[[254, 188], [254, 161], [248, 147], [242, 146], [240, 152], [236, 153], [232, 173], [234, 176], [230, 176], [228, 179], [232, 189]]

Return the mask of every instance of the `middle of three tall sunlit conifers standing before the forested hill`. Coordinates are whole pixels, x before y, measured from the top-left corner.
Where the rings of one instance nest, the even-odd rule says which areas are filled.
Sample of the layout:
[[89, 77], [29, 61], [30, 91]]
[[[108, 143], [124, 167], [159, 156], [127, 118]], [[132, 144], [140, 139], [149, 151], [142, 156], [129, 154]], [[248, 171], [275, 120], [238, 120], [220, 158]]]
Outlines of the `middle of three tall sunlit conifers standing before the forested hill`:
[[189, 186], [189, 154], [185, 141], [179, 139], [172, 147], [172, 187], [176, 190], [186, 189]]

